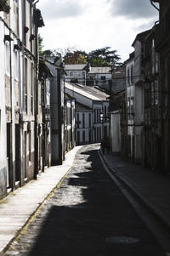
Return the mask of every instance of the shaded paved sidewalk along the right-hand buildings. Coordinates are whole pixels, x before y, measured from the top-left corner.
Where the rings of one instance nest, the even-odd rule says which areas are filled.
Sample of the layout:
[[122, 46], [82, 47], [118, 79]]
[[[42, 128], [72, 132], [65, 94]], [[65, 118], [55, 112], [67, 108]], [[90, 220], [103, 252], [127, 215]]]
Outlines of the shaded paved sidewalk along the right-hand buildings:
[[105, 164], [170, 229], [170, 177], [157, 174], [142, 165], [103, 155]]

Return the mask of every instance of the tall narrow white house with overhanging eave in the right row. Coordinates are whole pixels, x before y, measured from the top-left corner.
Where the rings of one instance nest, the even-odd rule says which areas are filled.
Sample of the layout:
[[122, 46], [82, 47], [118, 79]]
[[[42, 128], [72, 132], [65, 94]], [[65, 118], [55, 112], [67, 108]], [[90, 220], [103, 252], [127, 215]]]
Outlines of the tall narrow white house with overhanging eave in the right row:
[[[139, 33], [134, 42], [134, 98], [132, 102], [127, 102], [130, 108], [133, 105], [134, 110], [134, 161], [144, 161], [144, 37], [149, 34], [149, 31]], [[128, 70], [127, 70], [128, 71]], [[128, 77], [127, 77], [128, 79]], [[132, 100], [132, 97], [131, 97]]]

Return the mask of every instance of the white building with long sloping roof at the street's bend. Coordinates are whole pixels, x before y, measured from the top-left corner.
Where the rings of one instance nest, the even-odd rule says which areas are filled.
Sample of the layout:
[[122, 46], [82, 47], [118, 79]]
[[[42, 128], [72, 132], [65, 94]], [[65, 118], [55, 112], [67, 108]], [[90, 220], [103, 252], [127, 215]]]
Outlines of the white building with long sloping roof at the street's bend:
[[[109, 137], [108, 94], [99, 88], [65, 82], [65, 92], [76, 100], [77, 144], [100, 142]], [[100, 114], [104, 114], [103, 121]]]

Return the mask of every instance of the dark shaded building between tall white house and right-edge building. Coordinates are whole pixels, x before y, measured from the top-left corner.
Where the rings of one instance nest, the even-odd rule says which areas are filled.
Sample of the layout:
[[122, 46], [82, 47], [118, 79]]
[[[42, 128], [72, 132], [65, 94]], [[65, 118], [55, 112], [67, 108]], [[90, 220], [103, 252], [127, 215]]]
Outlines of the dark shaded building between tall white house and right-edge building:
[[161, 168], [161, 91], [155, 31], [156, 26], [144, 39], [144, 165], [158, 170]]

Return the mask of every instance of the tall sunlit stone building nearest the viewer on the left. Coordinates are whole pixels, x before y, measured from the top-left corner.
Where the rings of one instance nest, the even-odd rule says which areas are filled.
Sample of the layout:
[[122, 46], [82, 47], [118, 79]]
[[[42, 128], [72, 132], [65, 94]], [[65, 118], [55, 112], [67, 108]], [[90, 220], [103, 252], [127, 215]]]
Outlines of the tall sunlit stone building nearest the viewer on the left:
[[37, 31], [34, 1], [0, 1], [0, 197], [38, 173]]

